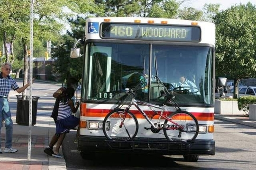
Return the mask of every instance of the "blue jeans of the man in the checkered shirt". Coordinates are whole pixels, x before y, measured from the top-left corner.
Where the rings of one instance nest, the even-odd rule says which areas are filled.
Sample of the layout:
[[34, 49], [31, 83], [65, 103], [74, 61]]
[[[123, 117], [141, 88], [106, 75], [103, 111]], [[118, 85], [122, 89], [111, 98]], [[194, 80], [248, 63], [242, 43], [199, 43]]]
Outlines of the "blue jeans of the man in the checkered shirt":
[[[2, 120], [5, 121], [5, 147], [12, 147], [12, 125], [13, 122], [11, 120], [11, 112], [9, 109], [9, 102], [7, 98], [0, 98], [0, 132], [2, 127]], [[1, 133], [0, 133], [1, 135]], [[0, 136], [1, 138], [1, 136]], [[0, 143], [1, 147], [1, 143]]]

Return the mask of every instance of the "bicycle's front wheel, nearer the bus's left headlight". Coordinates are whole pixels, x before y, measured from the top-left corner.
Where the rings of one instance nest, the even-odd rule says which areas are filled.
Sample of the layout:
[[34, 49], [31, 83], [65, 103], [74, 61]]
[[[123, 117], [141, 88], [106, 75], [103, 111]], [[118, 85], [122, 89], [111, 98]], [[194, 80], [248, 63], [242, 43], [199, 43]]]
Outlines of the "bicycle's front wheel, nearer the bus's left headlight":
[[138, 133], [137, 118], [129, 111], [114, 110], [103, 121], [103, 133], [110, 140], [133, 140]]

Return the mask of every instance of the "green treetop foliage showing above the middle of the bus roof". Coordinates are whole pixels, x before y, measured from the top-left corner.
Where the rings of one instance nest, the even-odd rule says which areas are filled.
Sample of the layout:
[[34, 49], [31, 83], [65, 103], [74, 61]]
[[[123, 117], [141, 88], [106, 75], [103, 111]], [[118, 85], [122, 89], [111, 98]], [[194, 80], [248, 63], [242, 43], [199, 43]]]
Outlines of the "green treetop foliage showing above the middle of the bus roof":
[[190, 0], [95, 0], [109, 17], [166, 17], [177, 15], [180, 5]]

